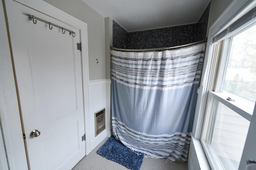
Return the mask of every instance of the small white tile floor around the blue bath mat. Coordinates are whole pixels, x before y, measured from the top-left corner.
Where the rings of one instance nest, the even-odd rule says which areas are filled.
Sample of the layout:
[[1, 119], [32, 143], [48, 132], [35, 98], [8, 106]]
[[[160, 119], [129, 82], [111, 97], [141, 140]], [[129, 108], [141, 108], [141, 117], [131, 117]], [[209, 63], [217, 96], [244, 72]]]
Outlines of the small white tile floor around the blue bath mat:
[[[128, 170], [126, 167], [108, 160], [97, 150], [108, 140], [104, 139], [90, 154], [84, 156], [72, 170]], [[140, 170], [188, 170], [187, 162], [166, 162], [166, 159], [143, 158]]]

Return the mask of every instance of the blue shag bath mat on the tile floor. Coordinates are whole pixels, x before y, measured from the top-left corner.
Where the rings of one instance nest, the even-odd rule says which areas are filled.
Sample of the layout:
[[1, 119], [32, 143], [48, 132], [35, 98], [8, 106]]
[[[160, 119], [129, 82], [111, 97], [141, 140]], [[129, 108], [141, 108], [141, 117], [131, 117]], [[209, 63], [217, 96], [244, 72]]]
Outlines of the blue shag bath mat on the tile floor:
[[131, 149], [116, 140], [114, 136], [111, 136], [97, 153], [131, 170], [140, 170], [144, 157], [142, 153], [137, 155], [135, 152], [132, 152]]

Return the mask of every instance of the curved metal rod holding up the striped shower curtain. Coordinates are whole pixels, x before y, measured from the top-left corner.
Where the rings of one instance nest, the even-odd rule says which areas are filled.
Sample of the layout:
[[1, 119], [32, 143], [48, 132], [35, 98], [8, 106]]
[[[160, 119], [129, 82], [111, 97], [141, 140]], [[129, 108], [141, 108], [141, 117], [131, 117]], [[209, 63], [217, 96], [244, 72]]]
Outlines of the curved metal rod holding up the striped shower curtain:
[[176, 49], [176, 48], [186, 47], [186, 46], [189, 46], [189, 45], [196, 45], [196, 44], [204, 43], [204, 42], [207, 42], [207, 38], [205, 40], [202, 40], [202, 41], [197, 41], [197, 42], [186, 44], [186, 45], [178, 45], [178, 46], [175, 46], [175, 47], [163, 47], [163, 48], [156, 48], [156, 49], [119, 49], [119, 48], [114, 48], [114, 47], [110, 46], [110, 50], [116, 50], [116, 51], [162, 51], [162, 50], [169, 50], [169, 49]]

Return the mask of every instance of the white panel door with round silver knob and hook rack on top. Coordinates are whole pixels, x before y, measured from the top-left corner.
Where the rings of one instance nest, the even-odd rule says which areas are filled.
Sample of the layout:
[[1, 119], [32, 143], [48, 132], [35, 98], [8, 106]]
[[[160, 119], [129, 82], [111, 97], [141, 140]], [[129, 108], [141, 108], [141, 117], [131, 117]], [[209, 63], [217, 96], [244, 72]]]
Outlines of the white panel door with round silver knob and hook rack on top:
[[17, 2], [7, 16], [30, 169], [71, 169], [85, 156], [80, 30]]

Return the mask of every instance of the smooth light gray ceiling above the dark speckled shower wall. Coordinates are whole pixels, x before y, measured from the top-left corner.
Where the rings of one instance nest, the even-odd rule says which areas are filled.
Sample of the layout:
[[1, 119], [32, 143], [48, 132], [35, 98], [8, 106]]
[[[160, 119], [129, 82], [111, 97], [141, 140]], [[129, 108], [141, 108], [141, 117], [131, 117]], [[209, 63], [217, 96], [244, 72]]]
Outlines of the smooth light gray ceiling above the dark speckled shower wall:
[[210, 0], [82, 0], [126, 31], [197, 23]]

